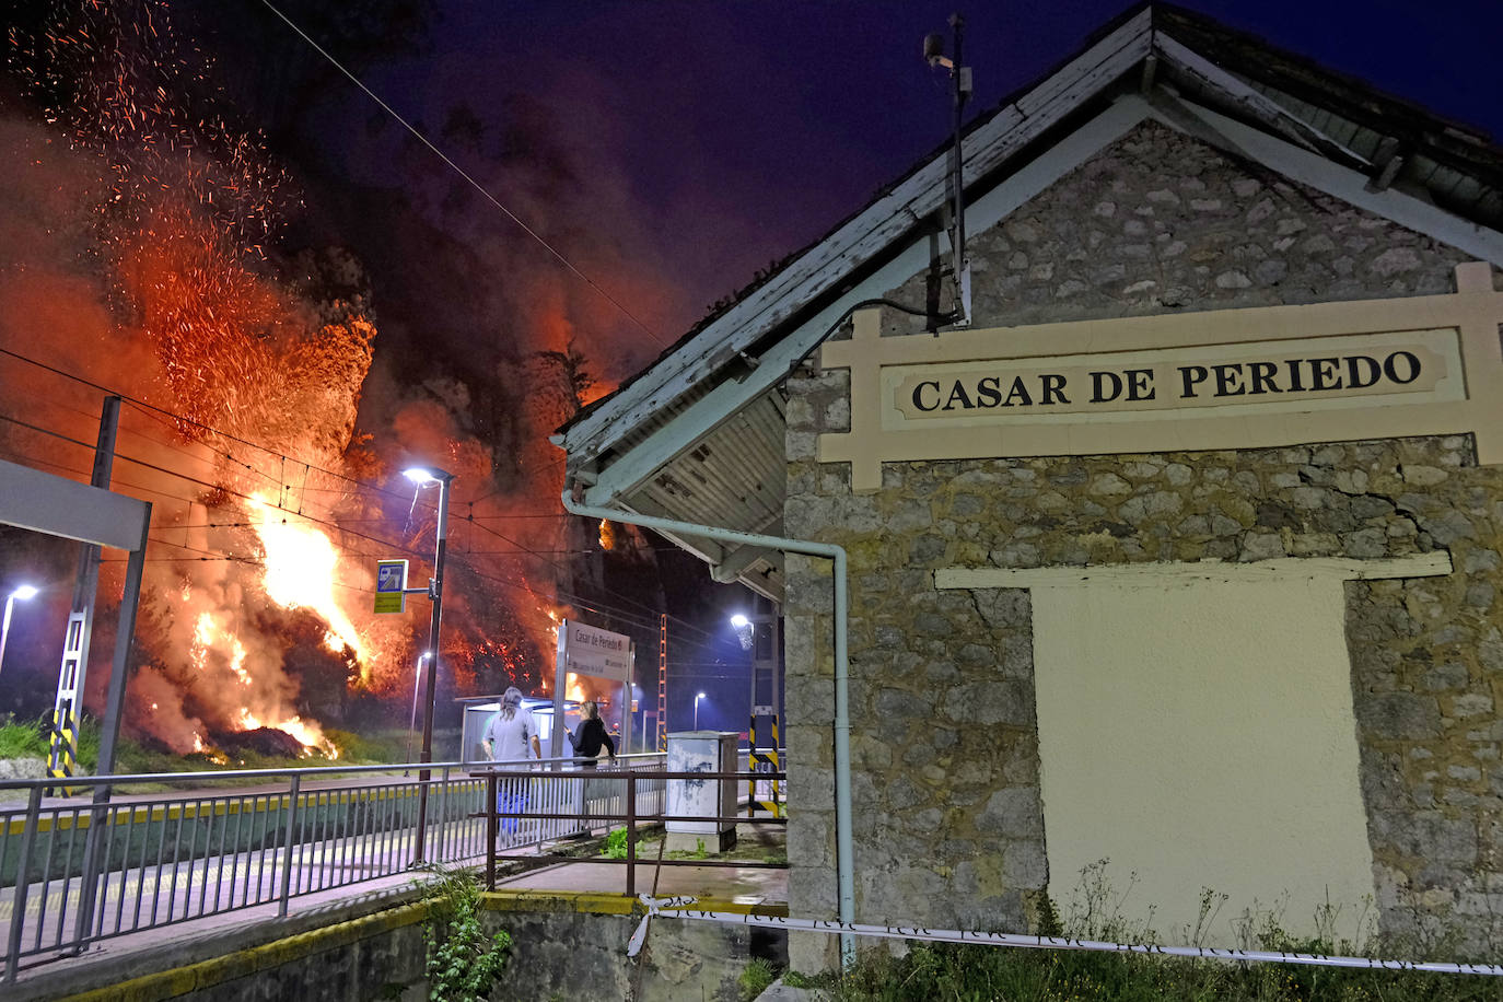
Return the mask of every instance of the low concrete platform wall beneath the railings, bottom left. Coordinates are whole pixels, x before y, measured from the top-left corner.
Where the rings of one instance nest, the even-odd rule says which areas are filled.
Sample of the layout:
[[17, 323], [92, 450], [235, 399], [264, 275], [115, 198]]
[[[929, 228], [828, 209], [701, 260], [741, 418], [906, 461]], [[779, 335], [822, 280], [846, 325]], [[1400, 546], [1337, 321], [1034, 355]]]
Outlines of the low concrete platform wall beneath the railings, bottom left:
[[[654, 919], [646, 948], [627, 957], [637, 925], [633, 901], [607, 894], [488, 894], [487, 930], [513, 937], [511, 961], [490, 997], [508, 1002], [555, 999], [631, 999], [739, 1002], [738, 976], [753, 957], [786, 963], [786, 936], [745, 925]], [[706, 903], [715, 910], [745, 910]], [[203, 1002], [365, 1002], [425, 999], [424, 903], [319, 925], [269, 939], [272, 924], [221, 937], [207, 958], [188, 961], [188, 949], [161, 946], [122, 963], [54, 967], [29, 978], [14, 993], [26, 999], [69, 997], [89, 1002], [195, 999]], [[123, 973], [129, 970], [131, 973]], [[134, 976], [132, 976], [134, 975]], [[93, 987], [98, 985], [98, 987]]]

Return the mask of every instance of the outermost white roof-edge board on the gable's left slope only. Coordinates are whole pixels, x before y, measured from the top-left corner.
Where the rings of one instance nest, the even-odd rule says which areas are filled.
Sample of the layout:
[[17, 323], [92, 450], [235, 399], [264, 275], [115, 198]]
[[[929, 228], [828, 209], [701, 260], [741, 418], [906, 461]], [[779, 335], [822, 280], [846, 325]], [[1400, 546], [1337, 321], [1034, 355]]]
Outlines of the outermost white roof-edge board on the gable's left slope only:
[[[1060, 122], [1103, 83], [1148, 56], [1151, 11], [1144, 9], [966, 137], [965, 180], [972, 183], [1028, 141]], [[609, 449], [643, 419], [714, 376], [736, 353], [774, 329], [804, 303], [830, 291], [851, 269], [885, 252], [914, 222], [945, 198], [947, 156], [936, 155], [866, 212], [748, 293], [691, 341], [660, 359], [634, 383], [604, 401], [564, 436], [574, 461]], [[837, 314], [839, 315], [839, 314]]]

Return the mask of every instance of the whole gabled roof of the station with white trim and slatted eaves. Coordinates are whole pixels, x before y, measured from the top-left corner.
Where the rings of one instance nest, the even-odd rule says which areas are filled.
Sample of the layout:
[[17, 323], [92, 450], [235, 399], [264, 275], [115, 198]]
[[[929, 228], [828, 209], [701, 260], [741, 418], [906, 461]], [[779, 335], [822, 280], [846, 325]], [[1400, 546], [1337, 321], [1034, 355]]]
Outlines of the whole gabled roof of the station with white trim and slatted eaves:
[[[1503, 264], [1503, 152], [1485, 135], [1163, 3], [1129, 11], [968, 126], [968, 228], [995, 224], [1150, 117]], [[555, 442], [588, 500], [779, 532], [777, 388], [855, 303], [927, 266], [930, 237], [944, 240], [947, 152], [932, 152], [565, 425]], [[717, 577], [780, 590], [777, 554], [678, 542]]]

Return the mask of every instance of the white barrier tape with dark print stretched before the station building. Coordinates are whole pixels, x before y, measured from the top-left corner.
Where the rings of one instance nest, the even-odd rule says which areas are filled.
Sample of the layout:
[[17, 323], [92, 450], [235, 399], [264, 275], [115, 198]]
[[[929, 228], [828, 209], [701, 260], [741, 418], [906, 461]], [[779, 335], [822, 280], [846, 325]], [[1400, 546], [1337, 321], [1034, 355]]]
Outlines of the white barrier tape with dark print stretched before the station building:
[[1160, 957], [1193, 957], [1198, 960], [1249, 960], [1255, 963], [1306, 964], [1317, 967], [1357, 967], [1368, 970], [1425, 970], [1431, 973], [1477, 973], [1503, 976], [1503, 964], [1462, 964], [1426, 960], [1378, 960], [1374, 957], [1339, 957], [1326, 954], [1299, 954], [1282, 949], [1219, 949], [1214, 946], [1159, 946], [1156, 943], [1108, 943], [1096, 939], [1072, 939], [1069, 936], [1024, 936], [1021, 933], [968, 933], [957, 928], [924, 928], [921, 925], [863, 925], [834, 919], [786, 918], [782, 915], [741, 915], [738, 912], [705, 912], [688, 907], [697, 898], [655, 898], [639, 894], [648, 913], [637, 922], [627, 955], [636, 957], [648, 936], [648, 919], [654, 915], [682, 918], [699, 922], [724, 922], [727, 925], [761, 925], [764, 928], [786, 928], [810, 933], [852, 933], [855, 936], [879, 936], [887, 939], [924, 939], [941, 943], [978, 943], [983, 946], [1018, 946], [1024, 949], [1094, 949], [1115, 954], [1156, 954]]

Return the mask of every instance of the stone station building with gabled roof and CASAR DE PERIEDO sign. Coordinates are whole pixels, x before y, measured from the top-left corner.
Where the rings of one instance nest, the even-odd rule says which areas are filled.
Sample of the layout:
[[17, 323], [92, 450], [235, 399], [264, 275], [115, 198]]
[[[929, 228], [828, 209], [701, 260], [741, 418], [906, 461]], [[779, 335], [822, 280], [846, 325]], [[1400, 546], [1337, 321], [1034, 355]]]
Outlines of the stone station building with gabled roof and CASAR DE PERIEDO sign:
[[1503, 153], [1147, 5], [966, 131], [966, 326], [945, 161], [558, 439], [586, 505], [848, 556], [846, 753], [831, 562], [666, 533], [782, 602], [791, 913], [1105, 879], [1160, 942], [1210, 888], [1211, 943], [1497, 958]]

